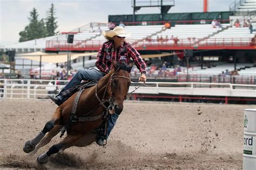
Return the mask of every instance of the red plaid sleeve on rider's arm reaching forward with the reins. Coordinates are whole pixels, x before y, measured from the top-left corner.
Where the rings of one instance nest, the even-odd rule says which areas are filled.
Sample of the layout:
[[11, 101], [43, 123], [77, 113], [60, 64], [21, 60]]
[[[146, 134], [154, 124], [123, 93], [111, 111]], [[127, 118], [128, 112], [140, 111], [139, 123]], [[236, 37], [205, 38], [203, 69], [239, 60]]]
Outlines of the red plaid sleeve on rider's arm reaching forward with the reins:
[[134, 49], [134, 47], [132, 47], [131, 45], [129, 45], [129, 47], [127, 48], [127, 52], [131, 55], [132, 60], [139, 69], [140, 73], [147, 74], [146, 63], [140, 56], [139, 52], [136, 49]]

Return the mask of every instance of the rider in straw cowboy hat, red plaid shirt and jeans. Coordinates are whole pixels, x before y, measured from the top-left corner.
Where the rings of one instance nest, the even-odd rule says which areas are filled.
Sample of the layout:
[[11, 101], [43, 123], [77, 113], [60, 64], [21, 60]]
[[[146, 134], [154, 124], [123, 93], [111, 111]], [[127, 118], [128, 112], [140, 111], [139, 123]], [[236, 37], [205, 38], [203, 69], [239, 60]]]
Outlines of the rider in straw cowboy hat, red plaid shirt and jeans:
[[[99, 80], [112, 69], [112, 61], [129, 64], [130, 58], [140, 71], [139, 81], [146, 82], [146, 64], [136, 49], [131, 44], [125, 42], [125, 37], [128, 35], [123, 26], [116, 26], [113, 30], [103, 32], [103, 35], [108, 40], [103, 43], [98, 51], [96, 66], [99, 70], [78, 70], [75, 76], [69, 83], [60, 91], [56, 97], [50, 97], [58, 106], [61, 105], [66, 98], [62, 96], [62, 92], [70, 89], [73, 86], [79, 85], [82, 80]], [[111, 111], [110, 111], [111, 112]], [[107, 120], [107, 130], [105, 135], [99, 135], [96, 143], [104, 146], [104, 141], [109, 137], [111, 130], [116, 124], [119, 114], [110, 114]]]

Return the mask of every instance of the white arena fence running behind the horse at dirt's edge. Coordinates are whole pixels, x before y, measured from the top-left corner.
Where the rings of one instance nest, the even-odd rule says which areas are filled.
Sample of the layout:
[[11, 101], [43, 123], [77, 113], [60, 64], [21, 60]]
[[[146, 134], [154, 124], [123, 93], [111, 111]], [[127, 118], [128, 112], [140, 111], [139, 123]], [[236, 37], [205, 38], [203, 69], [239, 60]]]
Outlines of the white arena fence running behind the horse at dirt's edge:
[[[59, 93], [66, 83], [68, 80], [0, 79], [0, 99], [48, 99], [49, 95]], [[132, 83], [129, 92], [137, 86], [138, 83]], [[256, 85], [147, 82], [134, 93], [256, 98]]]

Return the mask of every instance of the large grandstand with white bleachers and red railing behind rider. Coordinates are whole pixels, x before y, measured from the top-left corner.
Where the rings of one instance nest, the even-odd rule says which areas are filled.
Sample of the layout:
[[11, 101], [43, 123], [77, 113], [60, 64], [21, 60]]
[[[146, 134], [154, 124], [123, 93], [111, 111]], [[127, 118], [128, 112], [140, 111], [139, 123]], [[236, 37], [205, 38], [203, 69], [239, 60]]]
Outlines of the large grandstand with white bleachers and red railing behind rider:
[[[230, 5], [230, 11], [193, 13], [167, 13], [165, 11], [161, 14], [136, 15], [135, 17], [132, 15], [112, 15], [109, 16], [109, 22], [118, 25], [120, 21], [123, 21], [126, 25], [126, 31], [131, 34], [126, 38], [126, 41], [133, 44], [142, 54], [177, 53], [178, 55], [161, 58], [162, 61], [165, 60], [168, 62], [168, 69], [170, 71], [174, 70], [174, 63], [178, 63], [184, 70], [184, 73], [220, 74], [223, 71], [221, 66], [208, 67], [208, 61], [195, 59], [195, 57], [204, 58], [204, 56], [215, 56], [218, 58], [218, 62], [230, 71], [238, 69], [239, 74], [254, 75], [255, 70], [252, 66], [255, 66], [256, 63], [254, 57], [256, 32], [256, 29], [254, 29], [256, 27], [255, 10], [256, 1], [245, 0], [239, 1], [239, 3], [238, 1], [234, 1]], [[244, 13], [241, 11], [244, 11]], [[215, 18], [221, 22], [221, 26], [218, 28], [213, 28], [211, 25], [211, 22]], [[240, 20], [241, 24], [239, 28], [234, 27], [235, 19]], [[244, 27], [243, 24], [247, 20], [251, 22], [252, 29]], [[166, 22], [170, 23], [170, 29], [165, 28], [164, 24]], [[89, 23], [75, 30], [62, 32], [57, 36], [2, 46], [0, 50], [15, 50], [16, 54], [35, 51], [97, 51], [100, 45], [106, 41], [102, 31], [107, 30], [109, 30], [107, 23]], [[66, 42], [69, 34], [75, 35], [73, 43], [70, 45]], [[188, 62], [193, 62], [193, 64], [190, 64], [193, 65], [190, 68], [187, 68], [185, 60], [187, 56], [184, 55], [183, 50], [191, 50], [194, 53], [190, 56], [193, 58], [188, 60]], [[229, 58], [232, 58], [232, 61]], [[150, 60], [154, 59], [150, 58]], [[78, 59], [78, 61], [81, 60]], [[235, 66], [234, 64], [228, 64], [230, 62], [236, 62]], [[242, 69], [242, 66], [247, 66], [247, 64], [252, 68]], [[33, 66], [34, 64], [28, 65], [35, 67]], [[158, 66], [160, 67], [160, 65]], [[26, 68], [28, 67], [26, 66]], [[193, 67], [193, 71], [191, 67]], [[21, 67], [19, 66], [19, 68]], [[29, 69], [26, 70], [28, 72]]]

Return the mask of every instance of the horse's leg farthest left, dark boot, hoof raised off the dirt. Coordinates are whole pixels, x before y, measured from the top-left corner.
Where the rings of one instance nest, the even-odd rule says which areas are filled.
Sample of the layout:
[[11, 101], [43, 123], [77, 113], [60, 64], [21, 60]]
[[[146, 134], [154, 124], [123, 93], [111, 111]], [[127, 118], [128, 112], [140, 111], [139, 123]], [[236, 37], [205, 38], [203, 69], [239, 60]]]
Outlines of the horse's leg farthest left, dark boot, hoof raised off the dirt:
[[36, 145], [39, 143], [39, 141], [41, 141], [41, 139], [43, 139], [44, 135], [47, 132], [50, 132], [52, 130], [52, 128], [54, 127], [55, 124], [60, 124], [59, 120], [60, 120], [60, 116], [61, 116], [61, 109], [58, 107], [55, 111], [55, 113], [52, 115], [52, 118], [50, 121], [48, 121], [43, 130], [41, 132], [39, 132], [35, 138], [28, 140], [25, 142], [25, 145], [23, 147], [23, 151], [25, 153], [30, 153], [32, 152]]

